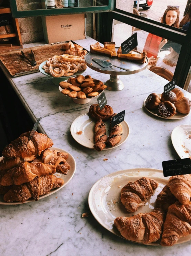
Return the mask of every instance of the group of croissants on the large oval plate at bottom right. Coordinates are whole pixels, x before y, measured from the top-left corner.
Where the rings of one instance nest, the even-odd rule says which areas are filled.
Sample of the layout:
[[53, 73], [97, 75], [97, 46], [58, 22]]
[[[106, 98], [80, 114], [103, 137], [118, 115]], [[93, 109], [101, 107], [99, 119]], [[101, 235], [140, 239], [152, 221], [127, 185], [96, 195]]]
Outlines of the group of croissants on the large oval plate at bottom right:
[[[154, 179], [142, 177], [121, 189], [121, 202], [128, 212], [144, 205], [158, 187]], [[191, 234], [191, 174], [171, 176], [157, 196], [154, 211], [132, 217], [118, 217], [114, 226], [131, 241], [149, 244], [158, 241], [172, 246]]]

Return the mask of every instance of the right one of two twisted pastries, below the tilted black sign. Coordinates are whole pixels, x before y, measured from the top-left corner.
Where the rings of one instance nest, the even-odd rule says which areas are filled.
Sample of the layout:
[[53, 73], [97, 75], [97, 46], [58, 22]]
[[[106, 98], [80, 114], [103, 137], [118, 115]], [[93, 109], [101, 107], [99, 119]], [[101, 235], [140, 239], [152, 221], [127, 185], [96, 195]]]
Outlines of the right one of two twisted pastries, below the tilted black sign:
[[[114, 117], [115, 115], [117, 114], [116, 113], [113, 114], [112, 117]], [[111, 120], [112, 120], [112, 117], [111, 117]], [[111, 121], [110, 121], [110, 127], [111, 127]], [[114, 145], [120, 142], [122, 134], [123, 134], [123, 128], [121, 124], [117, 124], [113, 126], [112, 128], [110, 128], [110, 134], [107, 140], [107, 144], [110, 147], [113, 147]]]

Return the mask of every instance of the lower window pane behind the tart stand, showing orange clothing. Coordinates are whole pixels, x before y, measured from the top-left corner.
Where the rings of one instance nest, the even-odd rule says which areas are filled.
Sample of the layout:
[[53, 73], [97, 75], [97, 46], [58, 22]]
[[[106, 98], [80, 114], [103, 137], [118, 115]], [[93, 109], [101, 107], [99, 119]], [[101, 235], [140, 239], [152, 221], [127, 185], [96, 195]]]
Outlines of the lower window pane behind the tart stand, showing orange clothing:
[[150, 59], [148, 69], [157, 66], [165, 68], [174, 74], [181, 45], [113, 20], [112, 41], [115, 42], [117, 47], [134, 33], [137, 33], [138, 39], [138, 46], [135, 50], [141, 53], [146, 51]]

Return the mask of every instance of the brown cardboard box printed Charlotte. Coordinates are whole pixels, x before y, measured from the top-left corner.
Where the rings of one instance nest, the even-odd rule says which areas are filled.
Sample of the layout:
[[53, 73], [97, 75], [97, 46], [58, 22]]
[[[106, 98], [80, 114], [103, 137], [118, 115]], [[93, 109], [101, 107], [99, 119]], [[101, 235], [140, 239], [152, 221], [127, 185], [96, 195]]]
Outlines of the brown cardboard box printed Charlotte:
[[85, 14], [42, 17], [42, 25], [48, 44], [86, 38]]

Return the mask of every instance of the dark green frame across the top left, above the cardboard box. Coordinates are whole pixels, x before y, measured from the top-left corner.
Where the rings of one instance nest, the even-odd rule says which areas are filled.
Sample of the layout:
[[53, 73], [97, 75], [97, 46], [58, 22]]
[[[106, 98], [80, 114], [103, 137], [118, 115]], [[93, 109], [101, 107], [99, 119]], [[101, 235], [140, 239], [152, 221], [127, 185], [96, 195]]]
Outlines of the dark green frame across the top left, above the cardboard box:
[[70, 7], [70, 8], [55, 8], [55, 9], [40, 9], [18, 11], [16, 0], [10, 0], [11, 12], [13, 18], [25, 18], [35, 16], [51, 16], [63, 14], [81, 14], [88, 12], [108, 12], [114, 8], [114, 0], [108, 0], [108, 6], [89, 6], [89, 7]]

